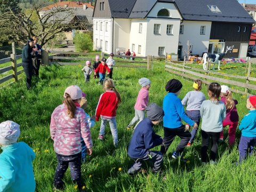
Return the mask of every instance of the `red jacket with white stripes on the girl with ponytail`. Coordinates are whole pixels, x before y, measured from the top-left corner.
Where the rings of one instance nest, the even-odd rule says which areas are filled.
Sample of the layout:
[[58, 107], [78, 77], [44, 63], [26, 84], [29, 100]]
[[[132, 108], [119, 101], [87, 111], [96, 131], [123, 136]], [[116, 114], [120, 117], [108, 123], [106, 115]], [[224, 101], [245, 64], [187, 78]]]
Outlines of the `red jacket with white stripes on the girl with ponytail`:
[[96, 108], [96, 121], [99, 121], [100, 117], [115, 118], [117, 107], [118, 103], [115, 91], [106, 91], [101, 94]]

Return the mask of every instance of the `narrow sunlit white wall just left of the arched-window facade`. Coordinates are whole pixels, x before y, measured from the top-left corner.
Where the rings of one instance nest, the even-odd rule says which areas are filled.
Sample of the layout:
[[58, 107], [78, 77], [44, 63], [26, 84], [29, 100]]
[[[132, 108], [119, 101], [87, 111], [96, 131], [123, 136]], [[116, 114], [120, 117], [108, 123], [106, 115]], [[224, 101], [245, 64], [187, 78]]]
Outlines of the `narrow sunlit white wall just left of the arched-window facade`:
[[[139, 25], [142, 23], [142, 31], [139, 33]], [[146, 39], [147, 39], [147, 19], [133, 19], [131, 21], [130, 33], [130, 50], [132, 51], [132, 44], [134, 44], [134, 52], [137, 56], [146, 55]], [[138, 46], [141, 46], [141, 52], [138, 52]]]

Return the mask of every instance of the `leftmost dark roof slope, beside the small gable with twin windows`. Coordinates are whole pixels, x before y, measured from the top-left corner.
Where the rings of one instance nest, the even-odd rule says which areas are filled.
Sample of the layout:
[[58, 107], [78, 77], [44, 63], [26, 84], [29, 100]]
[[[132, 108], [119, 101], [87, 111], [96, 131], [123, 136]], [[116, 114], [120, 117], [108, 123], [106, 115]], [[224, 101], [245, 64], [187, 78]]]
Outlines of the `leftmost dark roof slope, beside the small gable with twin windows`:
[[108, 0], [111, 15], [114, 18], [129, 18], [136, 0]]

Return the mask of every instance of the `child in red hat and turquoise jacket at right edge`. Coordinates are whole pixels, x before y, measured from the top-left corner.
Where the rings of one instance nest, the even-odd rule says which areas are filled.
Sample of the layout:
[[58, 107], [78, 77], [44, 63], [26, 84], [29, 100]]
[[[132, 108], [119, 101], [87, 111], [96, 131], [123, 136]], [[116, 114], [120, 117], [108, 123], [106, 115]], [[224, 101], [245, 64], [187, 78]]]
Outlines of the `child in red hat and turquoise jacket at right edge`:
[[249, 109], [249, 114], [242, 119], [239, 130], [242, 131], [239, 142], [239, 163], [246, 158], [246, 152], [249, 149], [249, 154], [252, 155], [253, 147], [256, 146], [256, 96], [253, 95], [247, 99], [246, 108]]

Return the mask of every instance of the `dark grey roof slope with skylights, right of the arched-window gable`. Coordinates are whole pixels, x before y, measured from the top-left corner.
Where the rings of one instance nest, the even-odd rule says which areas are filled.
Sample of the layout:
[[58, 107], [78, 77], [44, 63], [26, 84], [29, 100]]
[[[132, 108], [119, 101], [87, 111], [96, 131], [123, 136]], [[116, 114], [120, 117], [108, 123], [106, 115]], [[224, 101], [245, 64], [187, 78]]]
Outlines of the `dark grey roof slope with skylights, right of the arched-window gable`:
[[[255, 22], [237, 0], [175, 0], [175, 3], [185, 20]], [[221, 13], [213, 13], [207, 5], [217, 5]]]

